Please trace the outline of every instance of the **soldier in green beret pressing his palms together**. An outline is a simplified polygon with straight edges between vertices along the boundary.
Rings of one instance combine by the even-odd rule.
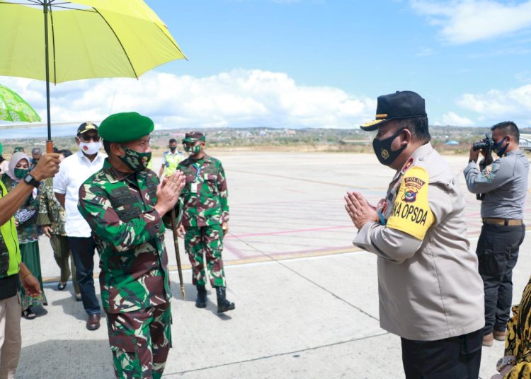
[[[103,120],[99,133],[108,158],[79,189],[79,211],[96,235],[117,378],[161,378],[171,347],[161,217],[178,201],[184,177],[177,171],[159,184],[156,174],[146,170],[153,129],[152,120],[136,112]]]

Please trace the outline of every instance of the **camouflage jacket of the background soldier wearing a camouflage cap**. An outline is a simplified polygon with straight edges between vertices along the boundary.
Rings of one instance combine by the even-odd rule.
[[[183,226],[210,226],[229,222],[227,180],[222,163],[211,156],[185,159],[178,165],[186,176],[181,192]]]

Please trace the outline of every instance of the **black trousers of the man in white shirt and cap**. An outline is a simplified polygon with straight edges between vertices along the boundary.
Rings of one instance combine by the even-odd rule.
[[[101,313],[100,303],[94,288],[94,250],[96,242],[92,237],[69,237],[68,244],[76,266],[76,279],[86,313]]]

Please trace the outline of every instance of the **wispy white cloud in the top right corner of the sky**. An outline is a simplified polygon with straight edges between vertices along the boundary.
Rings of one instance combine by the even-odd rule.
[[[411,0],[414,10],[440,27],[444,40],[464,44],[531,28],[531,1]]]

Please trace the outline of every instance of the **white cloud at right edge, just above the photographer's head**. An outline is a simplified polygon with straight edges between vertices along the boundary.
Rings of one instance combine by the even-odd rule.
[[[521,127],[531,124],[531,84],[508,91],[491,90],[486,93],[465,93],[457,104],[479,115],[487,124],[513,120]]]

